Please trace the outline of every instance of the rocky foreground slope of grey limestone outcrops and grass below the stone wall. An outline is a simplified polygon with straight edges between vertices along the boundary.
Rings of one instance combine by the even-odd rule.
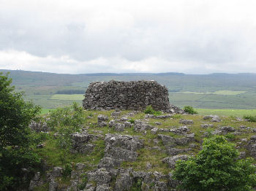
[[[48,139],[37,147],[44,163],[29,190],[175,190],[176,161],[196,155],[203,138],[214,134],[236,144],[240,158],[256,158],[256,123],[240,118],[113,110],[84,115],[68,151],[56,147],[57,130],[31,125]]]

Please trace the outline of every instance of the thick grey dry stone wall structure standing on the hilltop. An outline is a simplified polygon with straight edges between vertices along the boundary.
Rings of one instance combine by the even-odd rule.
[[[156,81],[92,82],[86,90],[85,109],[155,110],[171,112],[168,90]]]

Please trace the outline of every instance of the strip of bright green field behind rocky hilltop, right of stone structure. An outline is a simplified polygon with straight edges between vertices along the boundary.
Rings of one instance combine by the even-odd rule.
[[[195,109],[198,114],[217,114],[219,116],[236,116],[256,115],[256,109]]]

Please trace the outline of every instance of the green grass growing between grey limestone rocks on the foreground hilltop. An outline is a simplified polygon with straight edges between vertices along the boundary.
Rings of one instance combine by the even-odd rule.
[[[220,117],[220,122],[212,122],[211,118],[203,120],[203,116],[198,114],[173,114],[171,116],[167,116],[166,118],[162,118],[152,115],[148,116],[144,112],[121,111],[118,113],[118,115],[113,113],[116,112],[83,111],[81,113],[80,117],[82,117],[84,121],[83,124],[80,125],[80,128],[77,130],[81,131],[83,128],[82,132],[85,130],[86,133],[94,136],[94,139],[86,142],[86,145],[94,145],[93,149],[91,149],[89,152],[83,153],[70,152],[72,144],[69,145],[69,147],[67,147],[67,145],[61,146],[60,142],[63,141],[63,139],[60,135],[61,133],[63,135],[65,134],[65,128],[62,125],[53,126],[53,123],[50,123],[53,122],[52,120],[50,120],[52,117],[55,117],[54,119],[57,121],[59,119],[59,122],[61,123],[61,118],[58,118],[56,115],[57,112],[55,112],[55,114],[50,114],[45,117],[45,122],[52,124],[52,128],[50,128],[50,131],[46,136],[45,134],[41,133],[42,144],[44,145],[44,147],[38,147],[36,149],[36,152],[39,153],[39,155],[48,164],[48,172],[53,171],[53,167],[56,166],[61,167],[64,169],[64,171],[66,171],[66,175],[56,178],[56,182],[58,182],[59,188],[65,189],[67,187],[70,187],[70,185],[72,185],[72,181],[74,181],[74,179],[77,179],[72,175],[70,176],[71,171],[75,171],[80,174],[78,178],[78,187],[80,188],[80,190],[84,189],[86,187],[86,184],[93,184],[95,186],[98,185],[97,180],[91,178],[89,179],[88,177],[91,177],[90,174],[92,171],[97,171],[97,168],[99,168],[99,163],[101,163],[102,158],[107,155],[106,137],[108,134],[132,137],[138,136],[140,140],[143,140],[143,147],[136,150],[136,152],[138,153],[138,157],[136,158],[136,160],[123,161],[118,166],[118,168],[132,168],[132,173],[136,171],[143,171],[147,174],[151,174],[152,177],[156,176],[154,174],[157,171],[163,176],[160,182],[165,182],[165,184],[167,185],[170,184],[170,180],[168,180],[166,176],[168,176],[173,167],[171,167],[170,164],[163,162],[164,159],[167,157],[172,157],[173,155],[196,155],[197,152],[199,152],[201,149],[203,138],[211,137],[214,134],[222,134],[227,138],[228,141],[235,144],[239,152],[243,154],[241,155],[242,158],[252,156],[251,152],[247,149],[247,144],[250,138],[255,134],[256,122],[248,122],[246,120],[241,120],[236,117]],[[108,122],[109,124],[105,127],[99,125],[98,116],[100,114],[108,116],[108,120],[106,120],[106,122]],[[61,115],[59,115],[59,117],[61,117]],[[62,118],[62,120],[64,121],[64,118]],[[128,121],[131,122],[131,126],[126,127],[123,130],[118,129],[115,126],[110,127],[111,120],[115,120],[116,122],[120,123]],[[149,128],[144,130],[135,128],[138,120],[140,120],[140,122],[148,124]],[[192,124],[184,125],[182,124],[182,120],[190,120],[190,122],[192,120]],[[181,127],[184,126],[188,128],[186,133],[176,133],[177,129],[182,129]],[[152,130],[153,127],[156,129]],[[228,131],[224,130],[226,128],[223,127],[231,128],[230,131]],[[69,132],[69,136],[70,133],[72,132]],[[185,138],[191,137],[193,133],[193,139]],[[35,136],[38,136],[38,133],[35,133]],[[177,144],[172,145],[172,152],[168,151],[168,145],[165,143],[165,139],[162,138],[163,136],[166,136],[168,139],[171,138],[178,140]],[[185,141],[182,142],[181,140]],[[71,143],[74,144],[74,142]],[[173,151],[177,153],[173,153]],[[78,168],[78,164],[80,163],[83,164],[83,169]],[[256,160],[254,160],[253,163],[256,163]],[[116,184],[118,184],[118,179],[118,176],[113,176],[113,178],[110,179],[111,189],[116,187]],[[141,182],[138,182],[138,179],[135,180],[137,182],[135,181],[132,183],[132,187],[130,188],[130,190],[141,190],[144,186],[146,187],[145,179],[142,179]],[[155,190],[158,184],[153,183],[150,185],[148,184],[148,187],[151,190]],[[35,190],[48,190],[48,187],[49,182],[45,182],[41,186],[37,187]],[[167,189],[171,190],[171,187],[167,186]]]

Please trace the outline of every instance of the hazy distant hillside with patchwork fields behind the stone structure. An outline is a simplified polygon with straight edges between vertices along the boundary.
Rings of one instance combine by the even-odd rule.
[[[177,106],[192,105],[206,109],[256,109],[256,74],[181,74],[181,73],[99,73],[54,74],[38,71],[0,70],[10,72],[12,84],[24,90],[27,98],[44,108],[65,106],[78,96],[67,99],[52,96],[57,92],[85,91],[90,82],[156,80],[165,85],[170,102]]]

